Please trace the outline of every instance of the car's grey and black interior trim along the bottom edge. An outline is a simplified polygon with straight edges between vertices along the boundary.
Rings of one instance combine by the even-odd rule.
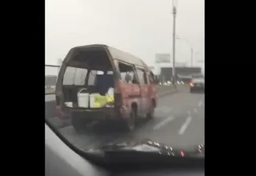
[[[45,175],[46,176],[80,176],[80,175],[120,175],[120,176],[137,176],[137,175],[173,175],[173,176],[201,176],[204,175],[204,167],[194,168],[170,168],[154,169],[152,167],[145,170],[122,170],[110,171],[100,166],[92,164],[90,161],[82,158],[74,152],[47,124],[45,125]]]

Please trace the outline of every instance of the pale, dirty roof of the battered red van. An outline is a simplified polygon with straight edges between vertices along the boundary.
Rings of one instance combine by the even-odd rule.
[[[134,55],[124,52],[122,50],[118,50],[114,47],[111,46],[107,46],[107,45],[102,45],[102,44],[94,44],[94,45],[87,45],[87,46],[76,46],[73,48],[73,50],[75,49],[88,49],[88,48],[102,48],[102,49],[106,49],[110,52],[111,57],[117,60],[120,60],[122,62],[128,62],[128,63],[132,63],[134,65],[137,66],[142,66],[142,67],[146,67],[146,70],[150,71],[150,68],[146,65],[145,62],[142,61],[142,59],[135,57]]]

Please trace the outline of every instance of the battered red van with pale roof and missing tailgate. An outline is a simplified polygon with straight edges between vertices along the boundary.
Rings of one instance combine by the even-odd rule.
[[[157,83],[150,68],[131,54],[106,45],[74,47],[58,74],[58,117],[71,118],[77,131],[93,121],[134,130],[138,118],[154,117]],[[97,98],[110,101],[99,106]]]

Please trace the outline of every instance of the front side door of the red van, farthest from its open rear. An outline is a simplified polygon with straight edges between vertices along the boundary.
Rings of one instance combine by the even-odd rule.
[[[146,114],[150,110],[150,86],[147,78],[146,70],[142,67],[137,67],[138,81],[141,88],[142,96],[142,114],[143,117],[146,117]]]

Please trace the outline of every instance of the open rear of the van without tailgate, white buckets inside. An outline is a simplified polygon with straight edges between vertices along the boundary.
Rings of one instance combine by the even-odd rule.
[[[77,47],[65,59],[62,93],[66,107],[114,106],[114,70],[105,48]]]

